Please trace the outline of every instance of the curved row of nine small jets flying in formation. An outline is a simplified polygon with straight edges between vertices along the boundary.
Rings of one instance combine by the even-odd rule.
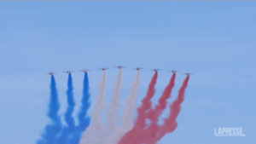
[[[116,68],[119,68],[119,69],[122,69],[122,68],[126,68],[125,66],[114,66]],[[98,68],[97,70],[102,70],[102,71],[105,71],[105,70],[108,70],[110,68],[107,68],[107,67],[102,67],[102,68]],[[135,67],[135,68],[132,68],[133,70],[137,70],[137,71],[140,71],[141,69],[144,69],[142,67]],[[158,68],[154,68],[154,69],[151,69],[149,71],[154,71],[154,72],[158,72],[158,71],[162,71],[161,69],[158,69]],[[69,73],[72,73],[73,71],[65,71],[67,74]],[[84,69],[84,70],[80,70],[79,72],[91,72],[90,70],[87,70],[87,69]],[[172,71],[168,71],[168,72],[172,72],[172,73],[175,73],[175,72],[179,72],[179,71],[176,71],[176,70],[172,70]],[[49,74],[50,76],[54,75],[54,74],[57,74],[55,72],[47,72],[45,74]],[[186,72],[186,73],[182,73],[182,74],[186,74],[187,76],[189,75],[194,75],[193,73],[189,73],[189,72]]]

